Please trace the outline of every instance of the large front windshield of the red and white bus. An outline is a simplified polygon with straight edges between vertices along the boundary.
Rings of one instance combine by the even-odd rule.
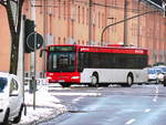
[[[49,72],[74,72],[75,52],[50,52],[48,61]]]

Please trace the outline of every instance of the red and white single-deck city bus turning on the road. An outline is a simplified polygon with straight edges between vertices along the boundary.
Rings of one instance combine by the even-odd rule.
[[[62,86],[116,83],[131,86],[147,81],[147,50],[131,46],[46,46],[46,77]]]

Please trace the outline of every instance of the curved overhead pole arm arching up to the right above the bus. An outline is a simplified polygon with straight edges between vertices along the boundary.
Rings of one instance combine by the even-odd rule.
[[[131,17],[131,18],[126,18],[124,20],[121,20],[118,22],[115,22],[115,23],[112,23],[112,24],[108,24],[106,25],[103,31],[102,31],[102,34],[101,34],[101,45],[103,45],[103,35],[104,35],[104,32],[110,28],[110,27],[113,27],[113,25],[116,25],[116,24],[120,24],[120,23],[123,23],[124,21],[128,21],[128,20],[132,20],[132,19],[135,19],[137,17],[141,17],[141,15],[144,15],[144,14],[148,14],[148,13],[152,13],[152,12],[158,12],[158,10],[156,11],[147,11],[147,12],[144,12],[144,13],[141,13],[141,14],[137,14],[137,15],[134,15],[134,17]]]

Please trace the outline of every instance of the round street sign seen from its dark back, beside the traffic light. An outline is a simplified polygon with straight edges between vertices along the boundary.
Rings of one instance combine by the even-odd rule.
[[[33,52],[34,44],[37,45],[35,49],[40,49],[43,44],[43,37],[37,32],[32,32],[28,35],[27,45]]]

